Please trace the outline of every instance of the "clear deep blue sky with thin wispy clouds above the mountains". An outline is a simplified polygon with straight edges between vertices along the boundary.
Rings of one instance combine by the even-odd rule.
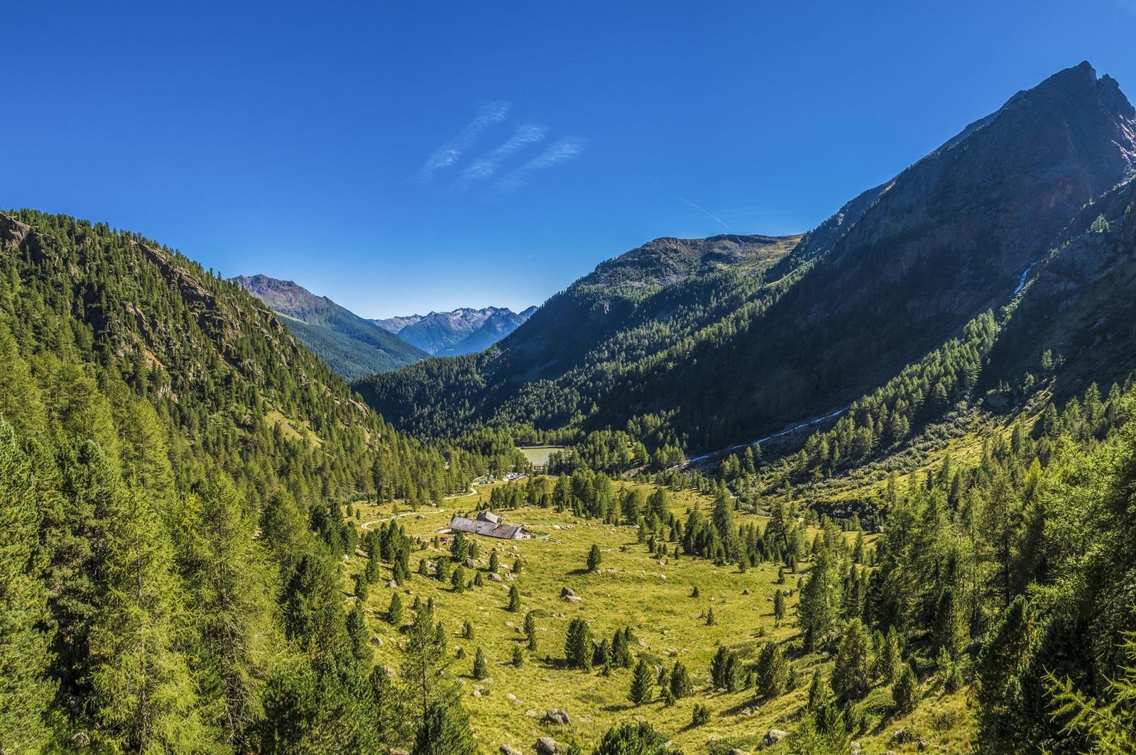
[[[807,230],[1083,59],[1136,94],[1136,0],[23,2],[3,27],[0,205],[368,317]]]

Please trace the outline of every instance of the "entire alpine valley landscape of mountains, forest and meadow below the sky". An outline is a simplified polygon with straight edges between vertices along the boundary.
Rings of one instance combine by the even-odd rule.
[[[1087,62],[520,313],[0,213],[0,753],[1136,752],[1134,291]]]

